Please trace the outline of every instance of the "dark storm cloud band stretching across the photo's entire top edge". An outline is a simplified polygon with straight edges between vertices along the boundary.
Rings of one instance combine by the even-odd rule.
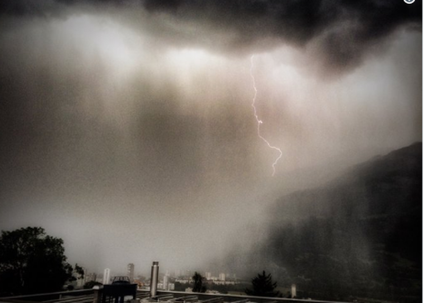
[[[174,23],[154,28],[171,43],[197,44],[218,51],[249,52],[280,43],[310,46],[324,67],[355,67],[401,25],[421,30],[422,3],[402,0],[18,0],[0,4],[0,11],[25,16],[50,16],[63,6],[144,8]],[[137,22],[133,23],[137,26]],[[196,27],[185,31],[184,26]],[[182,27],[178,29],[178,27]],[[160,33],[159,33],[160,32]]]

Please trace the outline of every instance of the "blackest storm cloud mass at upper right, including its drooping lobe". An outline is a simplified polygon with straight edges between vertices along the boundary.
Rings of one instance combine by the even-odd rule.
[[[407,5],[399,0],[146,0],[144,5],[151,12],[209,22],[237,33],[229,45],[222,45],[230,50],[269,47],[258,43],[266,38],[300,47],[313,42],[324,66],[334,68],[356,66],[400,25],[420,26],[422,19],[419,1]]]

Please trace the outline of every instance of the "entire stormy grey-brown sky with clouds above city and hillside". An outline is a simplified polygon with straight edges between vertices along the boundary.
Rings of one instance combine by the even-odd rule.
[[[421,22],[403,0],[1,1],[0,229],[112,275],[254,245],[308,171],[421,141]]]

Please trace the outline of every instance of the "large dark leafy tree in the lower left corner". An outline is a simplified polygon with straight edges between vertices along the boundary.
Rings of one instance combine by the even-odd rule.
[[[41,227],[27,227],[0,236],[0,296],[60,291],[73,281],[63,240]]]

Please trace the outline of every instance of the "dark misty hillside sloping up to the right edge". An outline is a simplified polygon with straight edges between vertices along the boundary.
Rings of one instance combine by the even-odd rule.
[[[422,143],[278,199],[246,262],[314,299],[421,301]]]

